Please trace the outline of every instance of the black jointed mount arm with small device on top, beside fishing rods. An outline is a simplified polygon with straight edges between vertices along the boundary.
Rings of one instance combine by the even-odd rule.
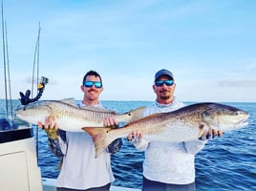
[[[41,76],[41,81],[37,85],[38,94],[34,98],[30,98],[30,96],[31,96],[31,91],[30,90],[27,90],[25,95],[22,92],[20,92],[19,93],[19,95],[20,95],[19,100],[20,100],[21,104],[22,105],[28,105],[28,104],[30,104],[34,101],[37,101],[43,95],[45,85],[48,82],[49,82],[49,79],[47,77]]]

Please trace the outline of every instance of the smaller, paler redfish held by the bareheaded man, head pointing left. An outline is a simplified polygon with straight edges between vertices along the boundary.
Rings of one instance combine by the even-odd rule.
[[[72,132],[81,132],[82,127],[104,127],[103,121],[106,117],[114,117],[117,122],[131,122],[142,117],[144,107],[117,114],[114,111],[94,107],[75,105],[74,99],[42,100],[17,109],[16,116],[37,124],[44,122],[46,117],[51,117],[59,129]]]

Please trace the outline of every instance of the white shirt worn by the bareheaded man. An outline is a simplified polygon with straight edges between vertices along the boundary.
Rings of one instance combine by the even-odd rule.
[[[66,138],[66,143],[59,138],[64,158],[57,187],[88,189],[115,180],[110,154],[104,151],[95,159],[95,145],[87,132],[66,132]]]

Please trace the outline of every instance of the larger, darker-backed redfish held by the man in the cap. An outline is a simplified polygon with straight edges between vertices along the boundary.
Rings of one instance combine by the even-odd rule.
[[[116,138],[139,131],[148,141],[186,141],[200,138],[209,128],[223,132],[242,128],[248,113],[219,103],[197,103],[169,113],[154,114],[119,129],[83,128],[95,142],[96,157]]]

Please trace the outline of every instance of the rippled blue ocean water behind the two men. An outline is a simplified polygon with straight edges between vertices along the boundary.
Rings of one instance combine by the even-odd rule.
[[[14,107],[19,102],[14,101]],[[190,102],[187,102],[188,104]],[[150,101],[102,101],[102,104],[118,113],[151,104]],[[222,138],[209,140],[196,155],[196,185],[198,191],[256,190],[256,103],[225,103],[244,109],[250,114],[249,125],[243,129],[225,133]],[[0,118],[5,117],[5,102],[0,99]],[[17,120],[19,124],[27,124]],[[56,178],[58,159],[48,149],[47,137],[34,127],[37,139],[38,164],[42,176]],[[38,138],[37,138],[38,137]],[[114,185],[141,188],[144,154],[123,138],[119,152],[112,156],[115,175]]]

